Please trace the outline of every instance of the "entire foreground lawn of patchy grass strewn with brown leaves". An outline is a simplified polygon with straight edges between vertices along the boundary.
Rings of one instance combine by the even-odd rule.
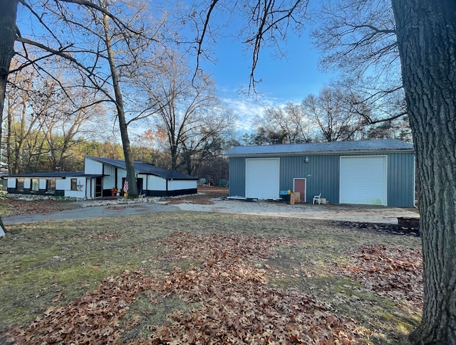
[[[0,240],[0,342],[407,344],[420,239],[337,223],[154,213]]]

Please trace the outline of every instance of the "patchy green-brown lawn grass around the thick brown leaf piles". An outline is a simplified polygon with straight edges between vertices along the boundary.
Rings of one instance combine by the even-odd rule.
[[[74,307],[103,279],[128,270],[140,272],[150,285],[118,314],[120,341],[162,336],[163,327],[179,320],[199,320],[195,315],[200,317],[207,306],[205,299],[186,292],[182,282],[170,283],[166,293],[160,284],[176,274],[187,275],[186,279],[194,275],[196,279],[209,269],[211,275],[223,274],[234,265],[229,258],[237,255],[242,269],[261,280],[262,291],[284,301],[306,294],[315,305],[331,306],[328,312],[346,324],[353,319],[357,329],[353,334],[361,335],[360,342],[351,344],[407,344],[408,332],[420,320],[420,309],[341,273],[341,267],[354,264],[351,255],[366,245],[420,250],[420,239],[336,222],[182,211],[110,222],[100,218],[15,225],[0,240],[0,331],[11,325],[27,329],[36,317],[43,319],[49,307]],[[248,302],[247,295],[243,298]],[[13,334],[18,334],[17,329]],[[5,342],[6,336],[2,339]]]

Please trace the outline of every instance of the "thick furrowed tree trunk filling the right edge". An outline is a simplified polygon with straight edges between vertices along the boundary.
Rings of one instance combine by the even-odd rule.
[[[413,344],[456,344],[456,1],[392,0],[415,140],[424,307]]]

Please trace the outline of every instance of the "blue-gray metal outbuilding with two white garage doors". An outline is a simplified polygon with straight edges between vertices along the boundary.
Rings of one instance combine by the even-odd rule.
[[[233,147],[229,196],[413,207],[415,151],[398,139]]]

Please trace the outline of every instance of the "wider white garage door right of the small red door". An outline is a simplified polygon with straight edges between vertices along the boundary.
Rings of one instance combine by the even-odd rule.
[[[386,156],[341,157],[340,203],[386,205]]]

